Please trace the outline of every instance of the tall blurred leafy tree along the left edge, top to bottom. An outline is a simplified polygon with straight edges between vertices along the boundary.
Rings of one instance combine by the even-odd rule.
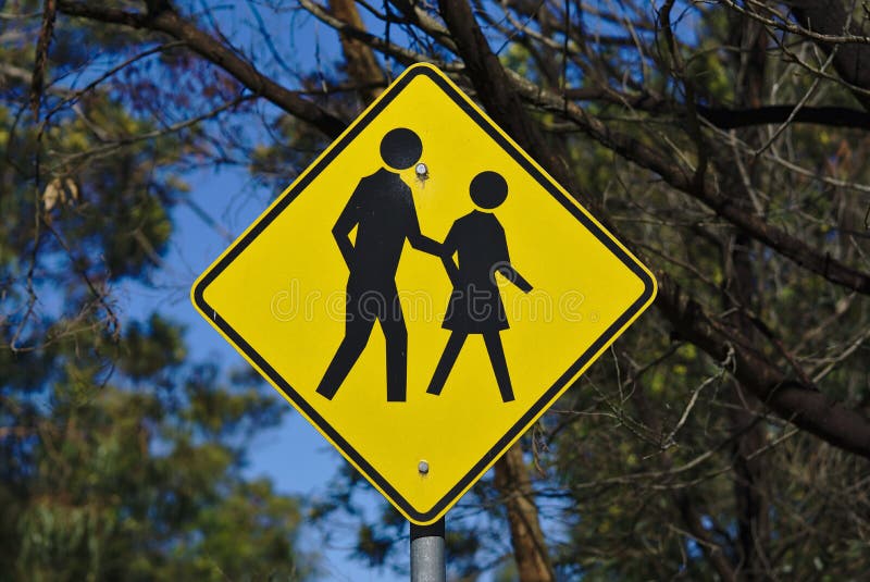
[[[51,3],[8,4],[0,578],[310,579],[300,500],[243,473],[251,435],[284,406],[250,372],[191,361],[177,324],[133,319],[114,293],[161,265],[191,136],[142,109],[157,79],[94,72],[136,61],[117,35],[52,33]],[[66,79],[79,74],[77,89]],[[137,91],[113,87],[117,75]]]

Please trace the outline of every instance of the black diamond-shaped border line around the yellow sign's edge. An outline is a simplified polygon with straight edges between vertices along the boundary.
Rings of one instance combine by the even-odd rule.
[[[591,231],[598,240],[600,240],[613,255],[616,255],[634,274],[636,274],[644,283],[644,292],[631,305],[631,307],[610,325],[605,333],[593,343],[592,346],[556,381],[556,383],[547,389],[546,393],[532,406],[532,408],[523,414],[520,420],[511,426],[511,429],[502,436],[488,451],[484,455],[472,469],[457,483],[435,506],[428,511],[421,512],[414,509],[399,493],[384,479],[374,468],[357,453],[353,447],[345,441],[324,419],[321,417],[307,401],[297,393],[287,381],[285,381],[269,362],[266,362],[260,354],[257,352],[221,315],[217,313],[204,299],[203,294],[206,287],[211,284],[214,278],[223,272],[224,269],[233,262],[233,260],[241,253],[247,246],[263,230],[272,223],[281,212],[293,202],[306,187],[320,175],[321,172],[338,156],[348,144],[350,144],[362,129],[364,129],[371,122],[383,111],[396,96],[415,77],[425,75],[434,82],[442,90],[444,90],[452,100],[458,104],[474,122],[483,128],[496,144],[504,148],[510,156],[534,178],[554,198],[556,198],[566,210],[580,221],[583,226]],[[405,75],[402,75],[394,85],[387,88],[381,99],[363,114],[349,131],[338,139],[321,158],[316,164],[307,172],[298,183],[284,194],[284,196],[272,207],[272,209],[263,216],[261,216],[254,226],[248,231],[243,238],[236,242],[232,249],[221,258],[221,260],[212,267],[212,269],[197,283],[194,287],[194,301],[200,311],[208,318],[211,315],[212,322],[241,350],[248,358],[251,359],[262,370],[269,379],[287,395],[290,401],[296,405],[311,421],[316,424],[325,435],[327,435],[333,443],[338,446],[341,451],[353,460],[357,467],[363,471],[369,479],[371,479],[381,491],[387,495],[393,503],[399,506],[405,513],[411,518],[412,521],[421,523],[428,523],[436,519],[446,508],[451,506],[458,496],[472,483],[474,483],[483,474],[483,471],[495,460],[498,454],[507,449],[508,445],[512,443],[520,434],[526,429],[532,420],[537,417],[544,408],[548,407],[552,400],[558,396],[559,392],[566,386],[568,382],[573,379],[576,373],[611,339],[617,333],[634,318],[641,309],[652,298],[656,290],[656,283],[652,277],[641,267],[636,259],[630,256],[616,240],[606,234],[600,226],[591,220],[584,212],[582,212],[575,203],[570,201],[556,185],[538,170],[517,146],[511,144],[505,136],[496,128],[495,124],[486,119],[474,107],[470,106],[457,88],[450,85],[442,75],[436,73],[427,65],[415,65],[410,67]]]

